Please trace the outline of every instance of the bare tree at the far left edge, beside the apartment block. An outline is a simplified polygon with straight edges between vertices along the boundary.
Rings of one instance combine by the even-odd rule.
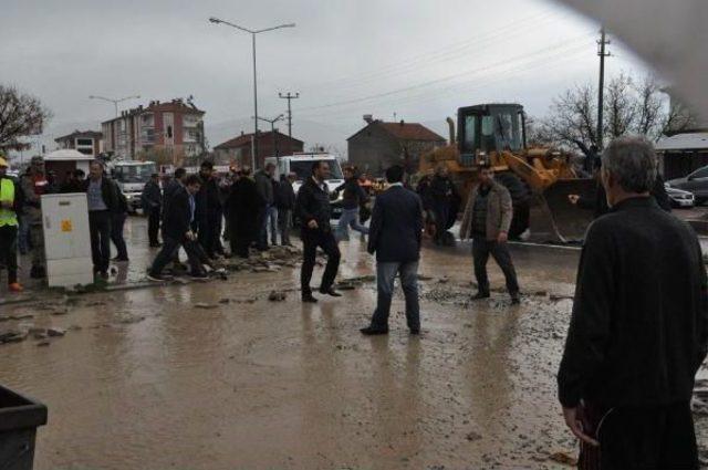
[[[42,133],[51,112],[35,96],[13,86],[0,85],[0,145],[18,143],[18,138]]]

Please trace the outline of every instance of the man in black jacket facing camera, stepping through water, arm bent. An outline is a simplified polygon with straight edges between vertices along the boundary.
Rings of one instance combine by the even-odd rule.
[[[310,281],[314,269],[317,247],[322,248],[327,257],[327,265],[322,275],[320,293],[333,297],[342,296],[333,288],[334,278],[340,268],[340,249],[332,233],[330,219],[332,209],[330,207],[330,191],[326,179],[330,177],[330,165],[324,160],[312,164],[312,176],[308,178],[300,190],[295,202],[295,210],[302,224],[301,239],[303,244],[303,263],[300,272],[300,286],[302,301],[315,303],[317,300],[312,295]]]

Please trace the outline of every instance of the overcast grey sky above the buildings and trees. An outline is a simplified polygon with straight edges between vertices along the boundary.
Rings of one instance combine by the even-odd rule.
[[[194,95],[207,135],[242,126],[253,114],[251,39],[211,15],[296,23],[258,36],[259,114],[285,109],[278,92],[300,92],[295,135],[300,119],[345,137],[363,114],[441,126],[483,102],[542,116],[563,90],[597,80],[598,24],[550,0],[2,0],[0,81],[52,109],[50,132],[112,117],[91,94],[142,95],[126,107]],[[611,51],[610,76],[646,73],[621,44]]]

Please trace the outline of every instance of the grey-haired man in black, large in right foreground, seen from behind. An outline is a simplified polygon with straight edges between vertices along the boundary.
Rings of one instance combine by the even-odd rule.
[[[650,196],[657,161],[647,140],[615,139],[602,160],[611,210],[587,229],[577,269],[558,374],[565,422],[581,461],[603,470],[698,469],[690,399],[708,348],[700,244]]]

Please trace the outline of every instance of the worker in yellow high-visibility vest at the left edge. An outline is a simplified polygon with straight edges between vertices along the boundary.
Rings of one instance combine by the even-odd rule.
[[[18,282],[18,212],[22,206],[20,186],[8,175],[8,161],[0,156],[0,262],[8,270],[10,292],[21,292]]]

